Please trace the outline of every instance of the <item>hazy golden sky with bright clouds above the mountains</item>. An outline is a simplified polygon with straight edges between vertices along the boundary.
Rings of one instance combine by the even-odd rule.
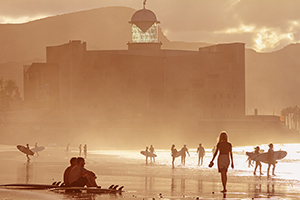
[[[143,0],[0,0],[0,23],[106,6],[141,9]],[[147,0],[172,41],[244,42],[257,51],[300,42],[300,0]]]

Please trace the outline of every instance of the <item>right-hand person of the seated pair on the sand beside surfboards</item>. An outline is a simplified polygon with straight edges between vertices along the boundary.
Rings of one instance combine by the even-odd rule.
[[[69,175],[70,186],[74,187],[97,187],[95,173],[84,168],[84,158],[78,157],[76,166],[74,166]]]

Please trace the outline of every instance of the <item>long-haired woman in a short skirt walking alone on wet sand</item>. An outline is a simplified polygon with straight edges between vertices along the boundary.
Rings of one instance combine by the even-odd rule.
[[[232,145],[231,143],[228,142],[228,136],[225,131],[220,133],[217,149],[216,152],[214,153],[212,160],[210,161],[209,167],[213,166],[213,161],[217,156],[218,152],[219,152],[218,171],[221,173],[221,180],[223,185],[223,190],[221,192],[227,192],[227,188],[226,188],[227,170],[230,164],[230,160],[231,160],[232,169],[234,168],[234,164],[233,164],[233,156],[232,156]]]

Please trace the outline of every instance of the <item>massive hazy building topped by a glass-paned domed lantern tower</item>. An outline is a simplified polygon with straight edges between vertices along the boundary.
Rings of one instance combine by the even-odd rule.
[[[91,51],[82,41],[47,47],[45,63],[24,67],[27,108],[95,120],[100,129],[135,129],[136,121],[138,127],[186,127],[245,116],[243,43],[167,50],[151,10],[138,10],[129,23],[128,50]]]

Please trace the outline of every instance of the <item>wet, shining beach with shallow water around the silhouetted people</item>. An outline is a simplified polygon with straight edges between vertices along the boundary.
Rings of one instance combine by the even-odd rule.
[[[263,164],[262,176],[253,175],[248,167],[246,151],[252,146],[234,147],[235,169],[228,170],[226,194],[221,193],[222,184],[217,172],[216,160],[206,149],[204,164],[197,165],[196,149],[189,149],[186,165],[175,161],[172,169],[169,149],[156,150],[155,163],[148,161],[140,150],[88,150],[85,167],[97,174],[97,183],[103,188],[124,185],[122,195],[81,194],[70,195],[50,190],[16,190],[0,188],[0,199],[299,199],[300,198],[300,144],[274,145],[275,150],[285,150],[288,155],[276,165],[276,176],[266,176],[267,165]],[[267,150],[267,145],[262,145]],[[26,161],[25,154],[14,145],[0,145],[0,184],[31,183],[51,184],[61,181],[72,156],[79,156],[78,147],[66,152],[65,147],[45,146],[39,156]],[[83,155],[82,155],[83,156]]]

